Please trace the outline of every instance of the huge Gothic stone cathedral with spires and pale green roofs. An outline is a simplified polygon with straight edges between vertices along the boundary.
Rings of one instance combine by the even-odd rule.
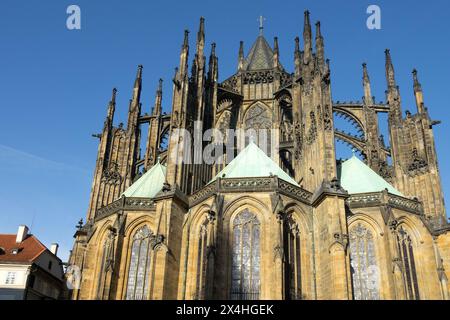
[[[292,71],[280,63],[277,38],[270,45],[262,31],[247,54],[240,43],[237,69],[222,82],[215,43],[205,57],[204,19],[190,65],[186,31],[170,114],[161,81],[154,105],[141,104],[142,66],[126,126],[114,125],[113,90],[71,251],[81,269],[73,299],[449,299],[439,122],[417,71],[414,114],[402,112],[389,50],[384,102],[372,97],[366,64],[363,101],[335,102],[320,23],[313,36],[309,12]],[[380,113],[388,114],[387,142]],[[338,117],[358,134],[337,128]],[[172,161],[198,151],[174,137],[195,127],[225,136],[269,129],[278,148],[264,152],[252,138],[222,163]],[[338,140],[360,157],[337,160]]]

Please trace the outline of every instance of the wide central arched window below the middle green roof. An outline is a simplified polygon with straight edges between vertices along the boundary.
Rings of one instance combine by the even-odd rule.
[[[233,220],[232,300],[257,300],[260,294],[260,223],[249,210]]]

